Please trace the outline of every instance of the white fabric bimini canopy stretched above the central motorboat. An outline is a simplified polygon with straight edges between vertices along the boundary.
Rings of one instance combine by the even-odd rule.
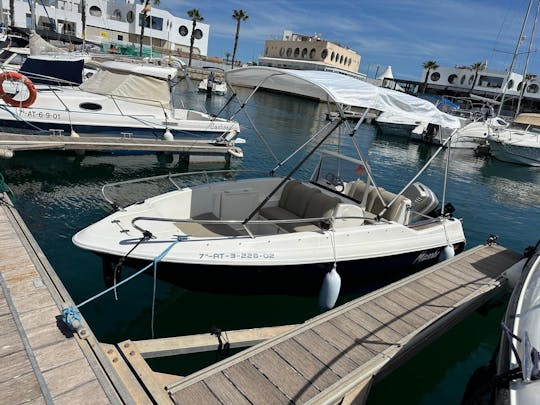
[[[261,85],[336,104],[371,108],[412,121],[430,122],[446,128],[460,127],[457,117],[443,113],[429,101],[338,73],[253,66],[230,70],[225,73],[225,78],[231,86]]]

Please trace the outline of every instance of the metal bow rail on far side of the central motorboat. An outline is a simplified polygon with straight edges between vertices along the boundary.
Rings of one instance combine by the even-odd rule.
[[[125,206],[122,206],[118,201],[115,201],[114,198],[110,195],[110,190],[115,187],[130,185],[130,184],[137,184],[137,183],[148,183],[158,180],[168,180],[170,184],[172,184],[177,190],[182,190],[185,187],[191,187],[194,185],[201,185],[201,184],[208,184],[210,182],[210,176],[216,176],[216,175],[222,175],[227,176],[227,180],[230,180],[231,177],[237,176],[237,175],[260,175],[264,174],[266,176],[272,177],[272,174],[263,171],[263,170],[200,170],[195,172],[186,172],[186,173],[169,173],[169,174],[162,174],[158,176],[150,176],[150,177],[141,177],[137,179],[131,179],[131,180],[124,180],[124,181],[118,181],[114,183],[107,183],[101,187],[101,195],[103,196],[103,199],[107,201],[109,204],[111,204],[115,209],[118,210],[125,210]],[[190,177],[197,177],[202,178],[203,181],[200,182],[192,182],[190,184],[179,184],[175,181],[175,179],[188,179]]]

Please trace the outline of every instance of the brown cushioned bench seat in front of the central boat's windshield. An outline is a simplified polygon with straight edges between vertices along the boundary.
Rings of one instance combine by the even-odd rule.
[[[260,214],[270,220],[330,217],[340,202],[337,197],[328,196],[316,188],[291,180],[284,186],[278,206],[265,207]],[[319,231],[320,225],[307,222],[279,224],[287,232]]]

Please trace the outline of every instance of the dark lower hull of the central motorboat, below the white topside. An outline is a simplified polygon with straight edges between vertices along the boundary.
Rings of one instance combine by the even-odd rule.
[[[455,245],[456,253],[461,252],[464,246],[465,243]],[[341,293],[369,291],[422,270],[438,261],[443,248],[444,246],[440,246],[393,256],[338,262],[337,272],[342,280]],[[107,279],[107,271],[114,269],[115,263],[120,258],[99,253],[98,255],[103,258],[104,276]],[[135,270],[149,263],[132,258],[124,262],[127,267]],[[192,291],[238,295],[316,295],[320,291],[324,276],[332,267],[332,262],[280,266],[224,266],[162,261],[157,267],[157,277]],[[147,273],[152,272],[153,269]]]

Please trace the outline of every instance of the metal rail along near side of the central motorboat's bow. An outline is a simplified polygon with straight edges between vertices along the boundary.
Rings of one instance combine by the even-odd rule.
[[[238,219],[194,219],[194,218],[163,218],[163,217],[135,217],[131,220],[131,225],[143,235],[152,235],[148,229],[136,224],[139,221],[153,222],[174,222],[174,223],[191,223],[198,225],[241,225],[251,238],[255,238],[255,234],[249,229],[250,226],[256,225],[280,225],[280,224],[320,224],[321,232],[334,229],[336,220],[364,220],[370,224],[390,223],[385,218],[370,218],[365,216],[332,216],[332,217],[317,217],[317,218],[293,218],[293,219],[253,219],[244,223],[244,220]],[[192,236],[192,235],[186,235]]]

